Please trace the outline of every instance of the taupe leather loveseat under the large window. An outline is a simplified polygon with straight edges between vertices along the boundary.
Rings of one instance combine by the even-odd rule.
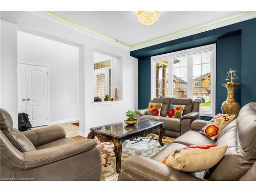
[[[147,109],[135,110],[136,118],[162,121],[165,128],[165,136],[179,137],[190,129],[190,124],[199,118],[198,101],[185,98],[154,98],[152,103],[163,103],[161,116],[147,115]],[[170,104],[185,105],[182,117],[180,119],[166,117]]]

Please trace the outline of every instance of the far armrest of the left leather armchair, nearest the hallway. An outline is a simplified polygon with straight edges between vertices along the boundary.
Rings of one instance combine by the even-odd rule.
[[[35,147],[66,137],[65,130],[63,130],[61,126],[57,125],[29,130],[22,133],[33,143]]]

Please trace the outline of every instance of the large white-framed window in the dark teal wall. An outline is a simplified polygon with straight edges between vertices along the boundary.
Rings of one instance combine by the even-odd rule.
[[[200,115],[215,115],[216,44],[154,56],[151,66],[152,98],[192,98]]]

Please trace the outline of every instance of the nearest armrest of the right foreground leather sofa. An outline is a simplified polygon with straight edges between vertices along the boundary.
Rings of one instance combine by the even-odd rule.
[[[136,178],[139,181],[201,181],[202,179],[176,170],[146,157],[131,157],[123,161],[118,181]],[[125,177],[130,176],[130,177]]]

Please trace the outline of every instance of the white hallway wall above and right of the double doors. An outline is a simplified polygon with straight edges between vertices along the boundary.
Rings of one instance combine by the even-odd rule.
[[[77,47],[18,31],[17,58],[49,66],[50,124],[79,118]]]

